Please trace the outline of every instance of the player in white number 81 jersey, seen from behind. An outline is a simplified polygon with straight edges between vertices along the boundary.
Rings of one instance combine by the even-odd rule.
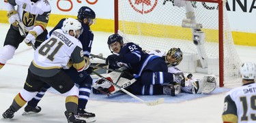
[[[35,50],[24,88],[3,113],[3,118],[13,118],[18,109],[30,101],[44,84],[48,84],[66,96],[65,115],[68,122],[85,122],[76,118],[79,89],[61,69],[68,68],[70,60],[77,71],[89,67],[89,61],[83,58],[82,44],[77,39],[82,30],[79,20],[67,18],[63,22],[63,28],[55,30],[51,37]]]

